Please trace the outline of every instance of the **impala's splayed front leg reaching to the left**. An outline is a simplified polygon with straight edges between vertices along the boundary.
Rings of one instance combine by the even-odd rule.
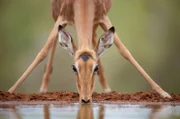
[[[57,38],[57,34],[58,34],[58,26],[59,24],[65,24],[65,22],[62,20],[62,17],[58,17],[49,37],[48,40],[46,42],[46,44],[44,45],[44,47],[41,49],[41,51],[38,53],[38,55],[36,56],[35,60],[32,62],[32,64],[27,68],[27,70],[24,72],[24,74],[18,79],[18,81],[8,90],[8,92],[13,93],[16,88],[27,78],[27,76],[32,72],[32,70],[41,62],[43,61],[50,48],[52,47],[53,42],[55,41],[55,39]]]

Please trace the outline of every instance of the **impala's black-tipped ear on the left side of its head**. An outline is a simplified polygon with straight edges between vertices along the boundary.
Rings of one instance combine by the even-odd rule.
[[[74,56],[76,47],[73,43],[71,35],[61,26],[58,27],[58,41],[59,44],[67,50],[71,56]]]

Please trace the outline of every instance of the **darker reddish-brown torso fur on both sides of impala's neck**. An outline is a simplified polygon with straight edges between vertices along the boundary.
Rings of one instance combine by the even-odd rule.
[[[74,22],[74,2],[77,0],[51,0],[52,16],[54,21],[58,16],[64,16],[67,21]],[[111,8],[113,0],[92,0],[95,4],[94,20],[99,20],[103,15],[107,14]]]

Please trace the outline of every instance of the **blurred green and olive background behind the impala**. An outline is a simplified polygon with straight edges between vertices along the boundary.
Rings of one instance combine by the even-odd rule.
[[[0,90],[8,90],[45,44],[54,21],[50,0],[0,1]],[[108,13],[121,41],[167,92],[180,93],[180,0],[115,0]],[[66,28],[76,39],[75,29]],[[98,37],[103,31],[98,29]],[[112,46],[102,56],[112,90],[151,90],[139,72]],[[16,92],[38,92],[47,58]],[[77,91],[73,58],[57,44],[49,91]],[[97,92],[102,88],[96,79]]]

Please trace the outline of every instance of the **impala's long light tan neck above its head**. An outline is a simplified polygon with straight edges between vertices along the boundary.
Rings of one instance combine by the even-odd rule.
[[[77,0],[74,6],[74,21],[79,49],[91,49],[95,11],[93,3],[93,0]]]

